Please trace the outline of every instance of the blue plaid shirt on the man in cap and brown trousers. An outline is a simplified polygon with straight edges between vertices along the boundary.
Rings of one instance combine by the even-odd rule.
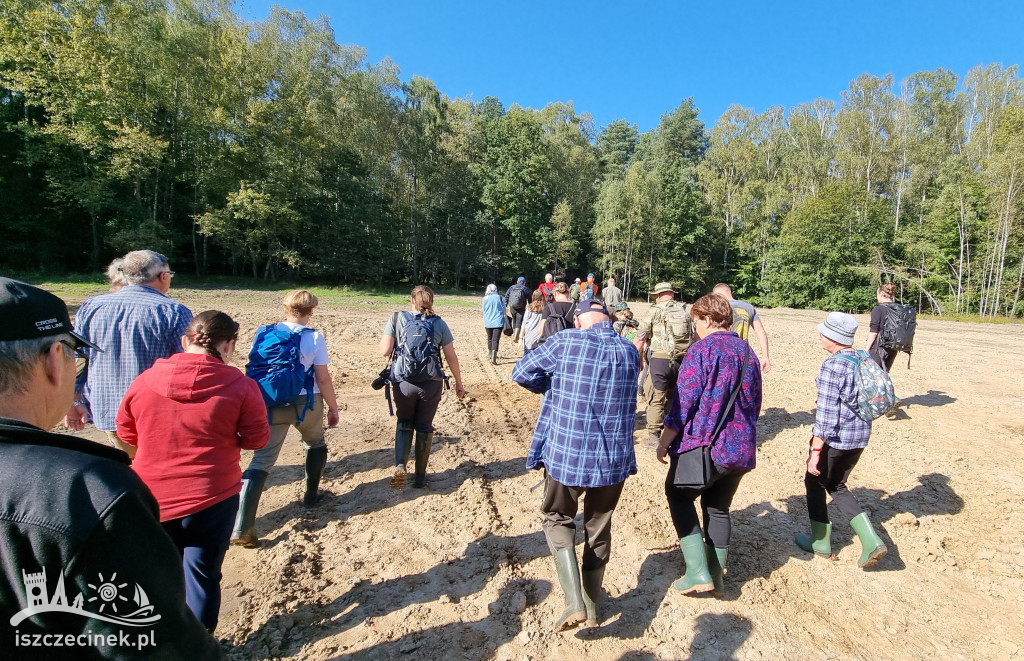
[[[544,393],[526,468],[572,487],[618,484],[636,473],[639,372],[640,355],[610,321],[561,330],[523,356],[512,380]]]

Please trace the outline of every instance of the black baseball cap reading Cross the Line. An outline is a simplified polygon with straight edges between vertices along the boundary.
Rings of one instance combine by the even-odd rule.
[[[75,347],[102,351],[72,330],[68,306],[56,296],[38,287],[9,277],[0,277],[0,342],[35,340],[70,334]]]

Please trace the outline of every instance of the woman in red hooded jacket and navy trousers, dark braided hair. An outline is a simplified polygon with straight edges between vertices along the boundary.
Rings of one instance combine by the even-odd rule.
[[[241,451],[270,437],[259,387],[227,364],[238,337],[223,312],[197,314],[181,338],[184,353],[139,374],[117,416],[118,438],[138,448],[132,469],[181,553],[185,602],[211,632],[242,490]]]

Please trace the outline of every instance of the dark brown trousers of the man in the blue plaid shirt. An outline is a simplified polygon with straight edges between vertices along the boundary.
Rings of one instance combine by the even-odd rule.
[[[544,536],[555,555],[575,547],[575,515],[583,497],[583,569],[600,569],[611,556],[611,513],[625,482],[606,487],[567,487],[551,476],[544,479]],[[586,495],[585,495],[586,494]]]

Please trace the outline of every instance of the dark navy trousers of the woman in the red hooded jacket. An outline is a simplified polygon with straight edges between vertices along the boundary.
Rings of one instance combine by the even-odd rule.
[[[162,525],[181,555],[185,572],[185,604],[203,626],[217,628],[220,613],[220,567],[230,544],[239,495],[196,514]]]

